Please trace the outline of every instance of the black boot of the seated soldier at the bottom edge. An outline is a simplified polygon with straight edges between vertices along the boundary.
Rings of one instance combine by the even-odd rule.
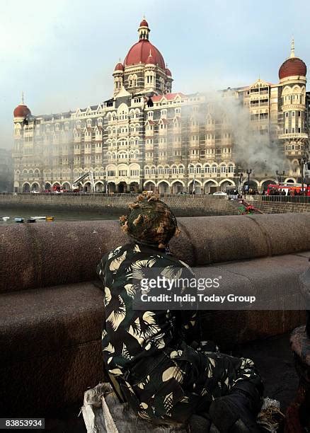
[[[216,398],[209,415],[221,433],[260,433],[256,417],[262,405],[260,391],[248,381],[240,381],[228,396]]]

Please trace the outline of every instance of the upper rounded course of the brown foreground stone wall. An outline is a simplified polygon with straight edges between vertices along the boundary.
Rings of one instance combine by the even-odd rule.
[[[310,249],[307,214],[179,218],[173,253],[190,266]],[[0,293],[89,281],[108,250],[128,241],[118,221],[0,226]]]

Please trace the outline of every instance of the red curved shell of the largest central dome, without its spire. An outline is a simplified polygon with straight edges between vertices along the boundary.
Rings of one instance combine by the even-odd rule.
[[[143,21],[142,21],[143,22]],[[151,50],[152,64],[158,64],[161,69],[165,70],[165,62],[163,56],[157,50],[154,45],[148,40],[139,40],[136,44],[132,45],[125,57],[125,66],[130,66],[131,64],[144,63],[147,64],[147,59],[149,57],[149,52]]]

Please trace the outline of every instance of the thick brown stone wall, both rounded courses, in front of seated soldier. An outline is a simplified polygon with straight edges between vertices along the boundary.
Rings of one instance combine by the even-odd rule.
[[[173,255],[198,277],[222,277],[224,294],[254,294],[268,306],[206,308],[193,340],[212,339],[230,352],[304,323],[304,311],[288,307],[300,296],[299,275],[308,267],[307,214],[179,218],[178,226]],[[1,224],[0,239],[0,413],[35,417],[81,406],[84,391],[104,374],[96,267],[128,237],[110,220]]]

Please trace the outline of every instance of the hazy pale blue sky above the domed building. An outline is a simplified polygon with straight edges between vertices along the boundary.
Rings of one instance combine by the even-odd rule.
[[[34,115],[96,105],[113,92],[113,69],[150,40],[173,74],[173,91],[194,93],[261,79],[295,54],[310,65],[309,0],[0,0],[0,147],[12,145],[13,109],[25,92]]]

